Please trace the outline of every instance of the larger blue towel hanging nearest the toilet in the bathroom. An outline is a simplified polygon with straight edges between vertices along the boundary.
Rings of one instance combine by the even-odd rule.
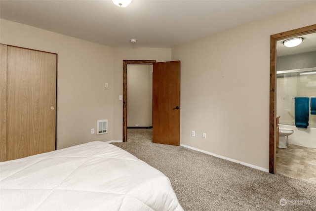
[[[295,97],[295,126],[307,128],[310,113],[310,98]]]

